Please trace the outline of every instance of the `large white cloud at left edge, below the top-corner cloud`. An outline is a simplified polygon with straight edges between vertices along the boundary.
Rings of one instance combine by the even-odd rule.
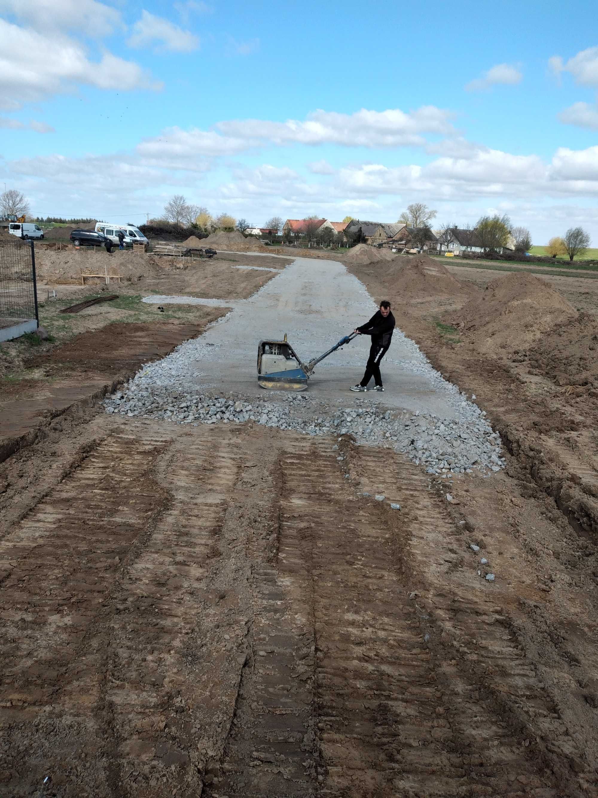
[[[159,85],[133,61],[105,51],[93,62],[73,39],[41,34],[0,19],[0,109],[72,91],[76,85],[98,89],[157,89]]]

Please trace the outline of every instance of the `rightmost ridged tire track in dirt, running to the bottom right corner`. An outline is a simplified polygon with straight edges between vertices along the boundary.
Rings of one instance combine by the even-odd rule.
[[[468,780],[480,787],[492,784],[506,795],[521,785],[525,794],[542,796],[595,791],[593,764],[584,763],[536,664],[527,658],[509,607],[501,606],[486,583],[477,590],[451,583],[450,573],[462,560],[462,536],[427,476],[399,455],[380,469],[380,452],[352,444],[344,451],[365,490],[385,493],[403,507],[407,590],[421,591],[412,603],[431,635],[439,705],[452,733],[447,739],[462,757]],[[494,777],[488,776],[489,767]]]

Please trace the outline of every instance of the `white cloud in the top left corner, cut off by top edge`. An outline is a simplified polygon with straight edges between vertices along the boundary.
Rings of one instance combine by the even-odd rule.
[[[96,0],[0,0],[0,13],[11,14],[36,30],[85,31],[104,38],[124,28],[120,11]]]

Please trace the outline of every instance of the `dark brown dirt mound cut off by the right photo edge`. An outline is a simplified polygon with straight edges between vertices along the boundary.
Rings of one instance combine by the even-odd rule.
[[[530,365],[557,385],[598,384],[598,321],[580,313],[566,318],[542,336],[528,353]]]

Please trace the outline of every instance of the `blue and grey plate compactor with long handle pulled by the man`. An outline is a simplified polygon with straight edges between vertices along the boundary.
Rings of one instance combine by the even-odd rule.
[[[304,363],[295,353],[293,347],[284,341],[260,341],[258,346],[258,383],[262,388],[273,391],[305,391],[307,381],[313,374],[314,367],[329,354],[336,352],[344,344],[348,344],[359,333],[345,335],[319,358]]]

